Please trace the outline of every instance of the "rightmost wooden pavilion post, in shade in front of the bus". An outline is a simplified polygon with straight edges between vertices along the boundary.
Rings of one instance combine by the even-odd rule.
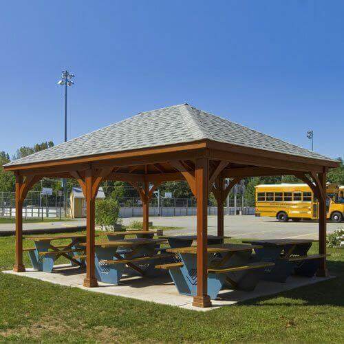
[[[326,173],[319,173],[319,188],[322,189],[323,197],[319,200],[319,254],[326,255]],[[329,272],[327,270],[326,256],[321,259],[320,268],[316,272],[316,276],[327,277]]]

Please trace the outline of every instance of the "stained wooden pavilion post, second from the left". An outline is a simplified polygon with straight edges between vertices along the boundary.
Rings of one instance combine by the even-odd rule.
[[[92,192],[94,186],[94,173],[91,169],[85,171],[86,186],[86,278],[83,286],[98,287],[94,265],[94,244],[95,244],[95,202],[96,194]]]

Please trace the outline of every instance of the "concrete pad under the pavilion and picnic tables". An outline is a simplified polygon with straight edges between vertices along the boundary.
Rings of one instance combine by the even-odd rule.
[[[215,308],[233,305],[238,302],[255,299],[257,297],[265,297],[272,294],[277,294],[286,290],[299,288],[301,286],[308,286],[320,281],[326,281],[332,277],[299,277],[291,276],[286,283],[276,283],[270,281],[260,281],[258,286],[252,292],[244,292],[242,290],[222,290],[219,297],[213,300],[213,307],[211,308],[197,308],[193,307],[193,297],[179,294],[175,288],[169,275],[154,278],[142,277],[125,277],[121,280],[119,286],[114,286],[108,283],[99,283],[98,288],[85,288],[83,280],[85,272],[78,267],[71,267],[67,264],[55,266],[54,271],[39,272],[32,268],[28,268],[26,272],[14,272],[13,270],[3,271],[4,273],[18,276],[25,276],[41,281],[59,284],[61,286],[69,286],[80,288],[90,292],[100,292],[103,294],[115,295],[119,297],[129,297],[131,299],[138,299],[141,301],[150,301],[160,303],[163,305],[173,305],[180,308],[197,311],[209,311]]]

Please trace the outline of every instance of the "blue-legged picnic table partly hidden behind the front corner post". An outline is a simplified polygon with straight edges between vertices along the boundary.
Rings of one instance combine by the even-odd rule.
[[[265,268],[271,262],[252,259],[252,250],[258,245],[218,244],[207,247],[208,295],[216,299],[225,283],[230,288],[253,290]],[[160,264],[155,268],[169,270],[171,278],[180,294],[195,296],[197,292],[197,246],[169,248],[166,252],[178,254],[180,261]]]

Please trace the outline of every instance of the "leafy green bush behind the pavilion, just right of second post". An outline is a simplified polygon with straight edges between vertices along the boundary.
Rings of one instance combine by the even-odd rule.
[[[105,200],[96,201],[96,224],[99,226],[115,226],[120,224],[118,215],[120,207],[114,198],[106,198]]]

